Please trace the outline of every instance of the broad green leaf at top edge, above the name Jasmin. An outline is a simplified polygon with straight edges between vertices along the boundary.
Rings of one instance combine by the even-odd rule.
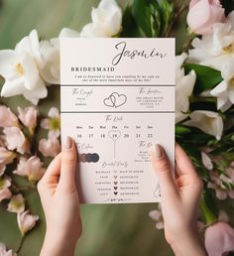
[[[161,8],[157,0],[135,0],[133,16],[146,37],[160,36]]]

